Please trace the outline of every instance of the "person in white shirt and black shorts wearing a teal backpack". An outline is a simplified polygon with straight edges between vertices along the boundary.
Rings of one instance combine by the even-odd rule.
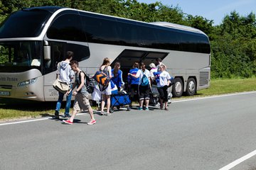
[[[150,93],[150,79],[151,74],[148,69],[146,69],[146,65],[144,62],[140,64],[139,71],[136,75],[128,73],[132,77],[139,78],[139,111],[143,110],[143,103],[145,103],[145,111],[149,111],[149,93]]]

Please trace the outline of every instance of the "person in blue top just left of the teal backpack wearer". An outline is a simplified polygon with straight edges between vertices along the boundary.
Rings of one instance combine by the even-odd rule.
[[[139,62],[134,62],[132,69],[129,70],[129,74],[136,75],[139,71]],[[134,94],[138,94],[139,89],[139,77],[132,77],[128,74],[128,89],[130,92],[130,96],[132,101],[134,101]]]

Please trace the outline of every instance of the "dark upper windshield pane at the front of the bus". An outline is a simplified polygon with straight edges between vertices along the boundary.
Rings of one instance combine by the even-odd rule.
[[[16,11],[1,23],[0,38],[37,37],[51,14],[38,9]]]

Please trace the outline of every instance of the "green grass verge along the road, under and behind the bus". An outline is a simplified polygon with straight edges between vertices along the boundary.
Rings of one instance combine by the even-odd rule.
[[[195,96],[182,98],[213,96],[243,91],[256,91],[256,78],[251,79],[212,79],[210,88],[198,91]],[[182,99],[181,98],[181,99]],[[180,98],[174,98],[174,100]],[[10,98],[0,98],[0,120],[16,118],[36,118],[54,114],[56,102],[24,101]],[[63,102],[65,106],[65,102]],[[72,108],[70,108],[70,111]],[[63,113],[64,109],[60,110]]]

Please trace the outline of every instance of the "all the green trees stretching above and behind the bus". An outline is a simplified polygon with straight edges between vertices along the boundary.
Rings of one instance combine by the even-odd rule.
[[[213,21],[203,16],[191,16],[178,6],[164,6],[159,1],[144,4],[137,0],[2,0],[0,21],[13,11],[33,6],[65,6],[138,21],[166,21],[198,28],[210,40],[211,77],[252,77],[256,74],[255,13],[240,16],[232,11],[223,17],[220,26],[213,26]]]

